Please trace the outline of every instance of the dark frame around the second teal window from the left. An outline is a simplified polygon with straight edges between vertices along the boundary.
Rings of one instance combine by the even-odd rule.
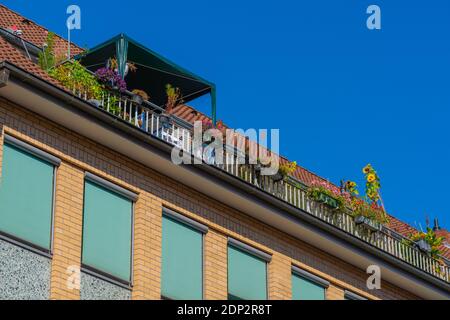
[[[113,193],[116,193],[119,196],[122,196],[128,199],[131,202],[131,248],[130,248],[130,279],[126,281],[124,279],[120,279],[115,277],[107,272],[98,270],[94,267],[86,265],[83,263],[83,248],[84,248],[84,221],[85,221],[85,201],[86,201],[86,182],[94,183],[100,187],[103,187]],[[103,179],[95,174],[90,172],[85,172],[84,174],[84,183],[83,183],[83,216],[82,216],[82,232],[81,232],[81,271],[93,276],[97,277],[101,280],[107,281],[114,285],[120,286],[122,288],[131,290],[134,286],[134,232],[135,232],[135,208],[136,202],[139,198],[139,195],[129,191],[125,188],[118,186],[106,179]]]

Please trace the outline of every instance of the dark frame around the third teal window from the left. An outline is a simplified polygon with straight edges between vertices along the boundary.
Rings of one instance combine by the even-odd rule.
[[[207,233],[209,232],[209,227],[197,222],[191,218],[188,218],[172,209],[169,209],[167,207],[163,207],[162,209],[162,216],[161,219],[164,219],[164,217],[167,217],[169,219],[175,220],[178,223],[185,225],[186,227],[190,227],[194,230],[196,230],[197,232],[199,232],[202,235],[202,300],[205,299],[205,237],[207,235]],[[162,220],[161,220],[162,221]],[[162,241],[162,230],[161,230],[161,241]],[[173,301],[173,298],[164,296],[162,294],[162,247],[161,247],[161,274],[160,274],[160,278],[161,278],[161,299],[162,300],[168,300],[168,301]]]

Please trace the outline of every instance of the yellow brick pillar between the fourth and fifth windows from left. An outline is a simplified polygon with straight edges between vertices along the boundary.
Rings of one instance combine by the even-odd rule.
[[[292,299],[292,264],[289,257],[279,253],[272,256],[269,264],[269,299]]]

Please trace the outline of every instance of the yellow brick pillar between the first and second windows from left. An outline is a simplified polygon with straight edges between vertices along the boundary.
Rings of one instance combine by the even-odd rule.
[[[84,172],[62,163],[57,170],[51,273],[52,300],[79,300]]]

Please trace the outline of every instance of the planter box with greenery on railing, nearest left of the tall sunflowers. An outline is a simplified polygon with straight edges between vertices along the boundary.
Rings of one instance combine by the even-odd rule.
[[[323,203],[333,210],[341,211],[346,207],[350,195],[327,181],[314,180],[307,191],[308,198]]]

